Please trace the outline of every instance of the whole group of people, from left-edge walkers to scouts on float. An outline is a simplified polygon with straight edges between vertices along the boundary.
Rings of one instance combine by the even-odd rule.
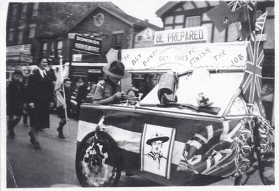
[[[40,149],[39,132],[50,128],[50,112],[56,109],[60,121],[56,130],[58,137],[65,139],[63,127],[69,116],[72,116],[75,106],[75,119],[78,120],[80,105],[90,102],[98,105],[111,105],[130,97],[143,95],[151,91],[158,84],[159,75],[146,75],[144,86],[133,86],[128,92],[121,91],[119,82],[129,76],[121,61],[113,61],[110,66],[103,67],[105,78],[98,78],[96,83],[86,83],[84,79],[77,79],[75,86],[69,78],[63,79],[63,96],[65,105],[56,107],[57,101],[54,93],[56,72],[50,65],[47,57],[40,57],[37,66],[22,66],[16,69],[11,80],[7,81],[6,103],[7,103],[7,128],[8,139],[15,139],[14,128],[23,118],[23,125],[29,126],[30,142],[33,148]],[[29,123],[28,123],[29,122]]]

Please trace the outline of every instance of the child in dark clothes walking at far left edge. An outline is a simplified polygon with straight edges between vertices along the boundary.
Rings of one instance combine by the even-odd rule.
[[[7,116],[8,116],[8,139],[15,138],[13,129],[18,122],[20,122],[23,114],[23,85],[22,85],[22,71],[15,70],[13,72],[12,82],[8,84],[6,91],[7,102]],[[15,119],[14,119],[15,117]]]

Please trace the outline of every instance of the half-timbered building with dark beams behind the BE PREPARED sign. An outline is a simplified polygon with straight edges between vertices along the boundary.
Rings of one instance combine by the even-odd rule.
[[[156,15],[163,21],[164,30],[179,29],[192,26],[206,26],[209,43],[234,41],[237,36],[236,25],[230,24],[227,29],[218,32],[214,24],[207,17],[213,6],[220,1],[169,1],[156,11]],[[263,32],[264,63],[262,67],[263,93],[274,93],[275,80],[275,39],[274,39],[274,0],[257,0],[257,17],[267,13]],[[267,89],[267,90],[266,90]],[[264,101],[266,114],[271,119],[273,99]]]

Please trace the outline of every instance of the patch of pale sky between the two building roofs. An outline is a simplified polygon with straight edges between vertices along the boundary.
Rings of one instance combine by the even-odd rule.
[[[140,20],[147,19],[150,23],[163,27],[163,22],[157,17],[156,10],[165,5],[169,0],[111,0],[128,15]]]

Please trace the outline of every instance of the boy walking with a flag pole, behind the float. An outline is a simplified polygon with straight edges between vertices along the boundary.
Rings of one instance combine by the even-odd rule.
[[[65,136],[63,135],[63,126],[66,124],[66,113],[67,112],[67,116],[69,116],[70,114],[70,84],[72,84],[72,82],[70,81],[70,78],[65,78],[63,80],[63,87],[64,87],[64,92],[65,92],[65,96],[63,96],[63,90],[60,90],[61,95],[63,96],[63,98],[65,98],[65,102],[66,105],[62,105],[59,106],[57,108],[57,115],[60,118],[60,122],[59,122],[59,126],[57,128],[58,131],[58,137],[61,139],[65,139]]]

